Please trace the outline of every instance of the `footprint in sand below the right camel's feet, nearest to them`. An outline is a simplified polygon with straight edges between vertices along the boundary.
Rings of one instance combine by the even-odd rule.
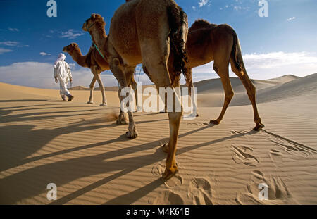
[[[235,161],[235,163],[243,163],[250,166],[256,166],[259,163],[259,160],[250,154],[253,150],[247,146],[232,145],[232,151],[232,160]]]

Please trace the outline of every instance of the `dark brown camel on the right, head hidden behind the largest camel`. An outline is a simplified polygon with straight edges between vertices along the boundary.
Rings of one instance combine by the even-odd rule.
[[[197,20],[189,28],[187,52],[189,56],[189,79],[192,78],[192,68],[214,61],[213,70],[216,71],[223,83],[225,103],[219,117],[216,120],[211,120],[210,123],[219,124],[221,122],[232,99],[233,90],[228,70],[228,65],[231,63],[232,71],[242,81],[253,106],[254,122],[256,123],[254,130],[261,130],[264,125],[261,123],[256,107],[256,88],[244,67],[240,42],[235,30],[229,25],[215,25],[206,20]],[[189,82],[189,87],[194,87],[192,81]]]

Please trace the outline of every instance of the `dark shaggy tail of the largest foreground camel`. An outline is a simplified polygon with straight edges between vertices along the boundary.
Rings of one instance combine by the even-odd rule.
[[[187,70],[188,56],[186,50],[186,41],[188,34],[188,18],[187,14],[182,11],[180,6],[173,4],[168,7],[168,23],[170,25],[170,50],[174,55],[175,75],[170,75],[172,84],[175,80],[180,79],[183,74],[186,83],[191,80]]]

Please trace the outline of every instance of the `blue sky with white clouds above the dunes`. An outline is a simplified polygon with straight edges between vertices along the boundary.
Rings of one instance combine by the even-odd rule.
[[[106,20],[125,0],[56,0],[57,18],[48,18],[46,0],[0,0],[0,81],[32,87],[56,88],[52,66],[63,46],[77,42],[86,54],[90,36],[82,23],[91,13]],[[228,23],[237,32],[250,77],[268,79],[285,74],[317,72],[317,1],[268,0],[268,18],[260,18],[258,0],[178,0],[189,17],[211,23]],[[70,56],[75,85],[88,86],[89,70]],[[216,77],[209,65],[194,69],[194,80]],[[233,75],[232,75],[233,76]],[[103,73],[107,86],[116,85],[110,72]],[[141,80],[149,82],[146,75]]]

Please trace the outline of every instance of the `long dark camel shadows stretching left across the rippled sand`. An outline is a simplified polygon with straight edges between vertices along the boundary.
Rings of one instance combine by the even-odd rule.
[[[17,118],[15,118],[15,120],[16,119]],[[142,123],[150,122],[153,121],[144,121]],[[114,126],[116,126],[116,123],[96,125],[92,124],[92,121],[83,121],[53,130],[32,130],[34,128],[33,125],[8,125],[0,127],[0,150],[1,152],[3,152],[0,156],[2,161],[0,161],[1,171],[25,163],[40,161],[43,158],[48,158],[51,156],[66,154],[73,151],[80,151],[83,149],[91,149],[97,146],[106,146],[107,144],[111,144],[113,142],[128,141],[128,139],[126,139],[125,135],[123,134],[105,142],[87,144],[85,146],[65,149],[63,151],[58,151],[51,154],[45,154],[33,158],[26,158],[27,156],[30,156],[30,154],[39,150],[40,148],[42,148],[42,146],[61,134],[82,132],[85,130],[97,130],[104,127]],[[200,127],[197,130],[192,130],[190,132],[180,134],[179,137],[185,137],[189,134],[193,134],[195,132],[199,132],[211,127],[213,127],[213,125],[206,125],[204,127]],[[254,133],[256,132],[251,131],[246,134]],[[213,140],[211,142],[187,146],[186,148],[178,149],[177,154],[183,154],[194,149],[199,149],[204,146],[210,146],[212,144],[223,142],[228,139],[233,139],[235,137],[241,137],[246,134],[234,134],[228,137]],[[29,136],[32,139],[36,139],[36,142],[33,142],[30,139],[19,139],[18,136]],[[19,145],[20,141],[25,141],[23,143],[23,148],[21,148],[21,146]],[[162,161],[166,158],[166,154],[164,154],[158,146],[161,145],[161,142],[167,141],[168,139],[160,139],[154,142],[147,142],[146,144],[118,149],[116,151],[108,151],[106,153],[93,156],[70,158],[66,161],[58,161],[55,163],[39,165],[23,170],[19,173],[14,173],[13,175],[9,175],[8,177],[4,177],[0,180],[0,204],[16,204],[18,201],[21,201],[23,199],[37,196],[43,192],[46,192],[46,185],[51,182],[54,182],[58,187],[61,187],[64,184],[73,182],[74,180],[83,177],[89,177],[101,173],[118,172],[113,175],[109,175],[108,177],[99,180],[98,182],[89,184],[87,187],[78,189],[75,192],[67,194],[61,199],[58,199],[57,201],[51,203],[66,204],[68,203],[68,201],[71,201],[78,196],[81,196],[82,194],[92,191],[93,189],[96,189],[97,187],[100,187],[107,182],[111,182],[118,177],[127,175],[128,173],[131,173],[132,171],[139,168],[143,168],[144,166],[152,165],[156,162]],[[139,151],[146,151],[155,148],[158,149],[154,154],[145,154],[142,156],[133,156],[129,158],[113,160],[113,158],[116,158],[118,156],[125,156],[127,154],[134,154]],[[15,151],[18,151],[18,153],[15,153]],[[86,168],[87,166],[89,166],[89,168]],[[160,180],[155,180],[154,182],[151,182],[150,184],[147,184],[144,187],[135,190],[134,192],[130,192],[128,194],[124,194],[123,196],[118,196],[115,199],[108,200],[105,204],[132,204],[133,202],[142,198],[142,196],[147,195],[149,192],[159,187],[161,183],[162,182]]]

